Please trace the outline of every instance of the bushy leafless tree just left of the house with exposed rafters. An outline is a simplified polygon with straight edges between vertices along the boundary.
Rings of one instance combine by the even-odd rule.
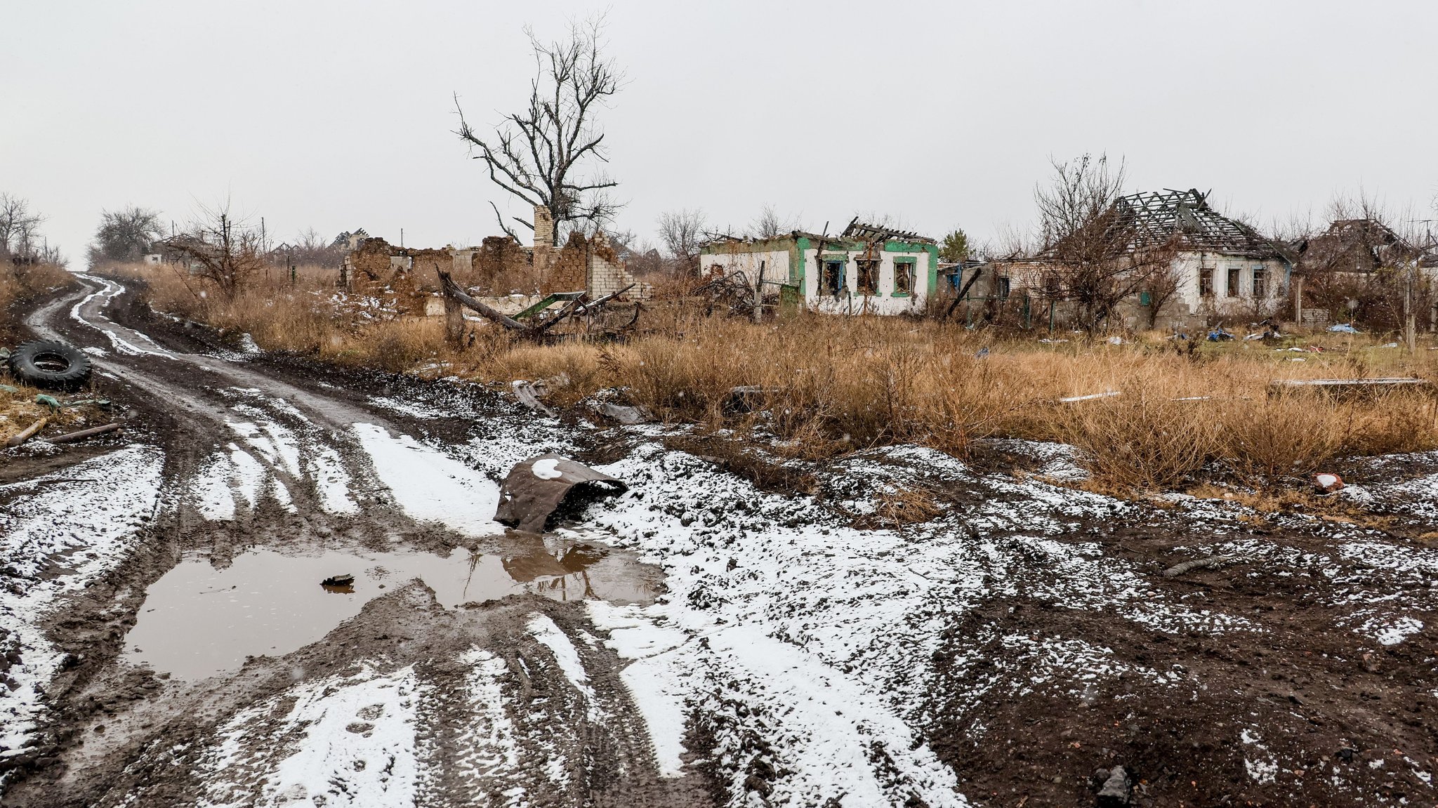
[[[1077,302],[1080,325],[1093,332],[1120,300],[1171,270],[1176,244],[1136,244],[1132,216],[1117,204],[1126,180],[1122,161],[1084,154],[1054,160],[1053,167],[1050,184],[1034,188],[1043,254],[1063,293]]]

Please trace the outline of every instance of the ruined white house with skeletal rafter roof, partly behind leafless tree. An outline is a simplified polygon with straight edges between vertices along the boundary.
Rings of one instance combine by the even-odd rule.
[[[1198,190],[1139,193],[1113,203],[1104,223],[1113,259],[1162,256],[1119,303],[1126,328],[1194,329],[1225,319],[1263,319],[1287,302],[1291,253],[1252,227],[1225,217]],[[982,272],[979,272],[982,270]],[[1011,300],[1030,321],[1063,321],[1073,309],[1064,267],[1051,254],[959,267],[951,282],[979,273],[969,296]],[[1021,302],[1020,302],[1021,300]]]

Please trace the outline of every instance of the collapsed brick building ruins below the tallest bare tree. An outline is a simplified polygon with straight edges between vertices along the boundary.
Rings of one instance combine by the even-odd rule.
[[[627,286],[633,289],[620,299],[646,293],[647,286],[636,285],[603,230],[594,236],[572,231],[562,247],[554,244],[552,233],[549,210],[536,207],[532,246],[509,236],[489,236],[479,246],[439,249],[398,247],[365,237],[345,256],[339,279],[355,292],[394,293],[406,313],[426,311],[423,298],[439,289],[436,270],[452,273],[462,286],[483,295],[588,292],[597,299]]]

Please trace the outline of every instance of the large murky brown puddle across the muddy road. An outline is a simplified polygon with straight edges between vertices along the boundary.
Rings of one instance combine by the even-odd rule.
[[[325,587],[335,575],[345,587]],[[203,679],[237,670],[246,656],[283,656],[322,640],[372,598],[418,578],[446,608],[532,592],[555,600],[653,601],[657,569],[610,548],[545,545],[533,538],[513,555],[449,558],[421,552],[285,555],[253,549],[226,569],[187,558],[145,591],[125,656],[157,673]]]

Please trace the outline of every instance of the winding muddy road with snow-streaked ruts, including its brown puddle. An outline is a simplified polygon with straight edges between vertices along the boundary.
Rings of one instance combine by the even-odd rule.
[[[10,539],[49,551],[9,605],[53,615],[55,646],[10,637],[12,671],[33,657],[43,680],[60,654],[10,716],[12,740],[35,730],[7,750],[6,805],[697,799],[659,778],[584,611],[651,602],[661,574],[592,536],[506,536],[490,474],[523,443],[475,469],[364,391],[128,328],[118,283],[82,283],[27,325],[86,346],[141,440],[13,460],[73,482],[6,490]],[[109,546],[82,549],[96,520]]]

